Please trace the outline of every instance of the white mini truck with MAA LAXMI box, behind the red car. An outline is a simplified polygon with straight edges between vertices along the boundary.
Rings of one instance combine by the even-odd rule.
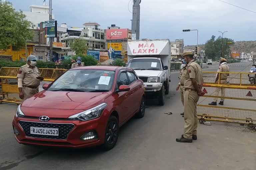
[[[169,93],[171,42],[164,40],[128,41],[127,67],[135,70],[144,82],[146,96],[156,96],[164,105]]]

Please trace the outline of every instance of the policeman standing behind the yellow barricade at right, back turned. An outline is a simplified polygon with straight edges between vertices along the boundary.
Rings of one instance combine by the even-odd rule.
[[[220,66],[219,66],[217,72],[229,72],[229,66],[228,66],[227,60],[225,58],[221,58]],[[228,73],[217,73],[215,83],[219,83],[219,75],[220,75],[220,84],[227,83],[227,78],[229,76]],[[215,90],[215,96],[219,96],[220,91],[221,91],[221,96],[225,96],[225,88],[217,88],[217,90]],[[216,106],[217,101],[218,101],[218,99],[214,98],[213,102],[209,103],[209,105]],[[219,105],[224,105],[224,98],[220,99]]]

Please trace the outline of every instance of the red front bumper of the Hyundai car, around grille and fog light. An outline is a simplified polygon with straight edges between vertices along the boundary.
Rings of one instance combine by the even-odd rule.
[[[38,119],[37,119],[38,120]],[[36,119],[14,118],[12,125],[18,130],[18,134],[14,132],[15,139],[21,144],[41,145],[41,146],[61,146],[61,147],[90,147],[104,143],[105,128],[107,122],[102,118],[93,119],[90,121],[48,121],[43,123]],[[107,120],[107,119],[106,119]],[[35,124],[70,124],[74,127],[68,132],[66,139],[50,139],[41,137],[31,137],[30,132],[23,129],[21,123],[33,122]],[[59,130],[60,131],[60,130]],[[89,140],[82,140],[80,137],[90,131],[96,132],[96,137]],[[43,135],[41,135],[43,136]]]

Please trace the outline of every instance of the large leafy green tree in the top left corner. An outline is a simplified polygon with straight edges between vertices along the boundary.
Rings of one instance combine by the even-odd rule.
[[[34,25],[25,17],[22,11],[15,11],[12,3],[0,2],[0,49],[7,50],[10,45],[19,49],[27,40],[33,41],[34,33],[29,28]]]

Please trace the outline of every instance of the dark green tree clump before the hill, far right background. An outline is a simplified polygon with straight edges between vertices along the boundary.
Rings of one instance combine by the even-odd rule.
[[[228,57],[230,51],[230,44],[227,42],[234,43],[234,40],[223,38],[223,56]],[[222,37],[219,36],[215,40],[215,36],[212,36],[210,40],[205,43],[205,54],[208,58],[213,60],[218,60],[221,57],[221,49],[222,49]]]

